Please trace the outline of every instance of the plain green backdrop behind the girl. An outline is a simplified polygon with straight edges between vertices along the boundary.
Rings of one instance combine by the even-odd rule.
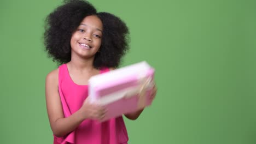
[[[158,94],[129,143],[256,143],[256,1],[90,1],[130,28],[121,66],[147,61]],[[44,19],[62,1],[0,1],[0,142],[53,143]]]

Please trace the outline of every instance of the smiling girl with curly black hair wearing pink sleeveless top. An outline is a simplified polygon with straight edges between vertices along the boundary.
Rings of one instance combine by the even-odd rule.
[[[123,117],[98,122],[107,110],[90,104],[91,76],[117,68],[128,47],[128,28],[118,17],[97,13],[85,1],[66,1],[46,19],[45,49],[60,65],[45,80],[46,106],[54,143],[127,143]],[[156,88],[152,93],[155,97]],[[143,110],[127,113],[136,119]]]

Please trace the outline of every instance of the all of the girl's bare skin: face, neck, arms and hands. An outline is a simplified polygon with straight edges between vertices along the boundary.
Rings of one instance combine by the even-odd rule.
[[[71,61],[67,63],[69,75],[77,85],[88,85],[91,76],[100,74],[100,70],[93,67],[95,53],[99,51],[102,37],[102,22],[97,16],[86,16],[71,38]],[[113,68],[111,68],[113,69]],[[65,136],[79,126],[85,119],[101,120],[107,110],[85,99],[82,107],[69,117],[64,117],[61,99],[58,91],[59,69],[51,71],[45,79],[46,108],[53,133],[57,137]],[[156,87],[151,95],[156,94]],[[127,113],[129,119],[137,119],[142,110]]]

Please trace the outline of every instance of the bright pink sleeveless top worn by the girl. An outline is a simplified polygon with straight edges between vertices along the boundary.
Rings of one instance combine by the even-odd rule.
[[[108,72],[101,69],[101,74]],[[67,65],[59,67],[59,93],[65,117],[69,117],[83,105],[88,97],[88,86],[77,85],[69,76]],[[123,117],[98,122],[86,119],[74,131],[64,137],[54,136],[54,144],[127,144],[128,136]]]

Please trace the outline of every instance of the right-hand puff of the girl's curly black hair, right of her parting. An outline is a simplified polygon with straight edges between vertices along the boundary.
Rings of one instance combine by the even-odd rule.
[[[100,52],[96,53],[94,65],[118,67],[121,57],[129,50],[129,29],[119,17],[102,12],[97,16],[103,23]]]

